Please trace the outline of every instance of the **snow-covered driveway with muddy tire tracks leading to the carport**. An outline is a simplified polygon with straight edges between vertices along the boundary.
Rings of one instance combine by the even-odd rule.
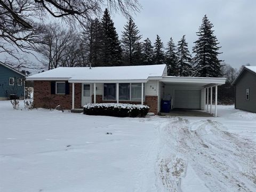
[[[255,142],[214,118],[173,117],[158,129],[158,191],[255,191]]]

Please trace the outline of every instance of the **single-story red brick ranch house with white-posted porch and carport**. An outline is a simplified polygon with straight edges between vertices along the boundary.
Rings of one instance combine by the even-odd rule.
[[[65,109],[81,108],[86,103],[117,102],[146,104],[150,112],[157,114],[166,95],[171,98],[172,108],[204,110],[206,90],[209,98],[209,87],[217,88],[226,78],[167,76],[166,65],[149,65],[59,67],[27,80],[34,81],[35,107],[46,107],[49,100],[44,102],[44,98],[51,98]]]

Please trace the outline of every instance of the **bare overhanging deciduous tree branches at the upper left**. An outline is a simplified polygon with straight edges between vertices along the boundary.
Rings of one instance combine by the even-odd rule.
[[[83,27],[105,6],[127,17],[140,8],[138,0],[0,0],[0,54],[23,62],[19,53],[33,54],[31,51],[41,43],[44,19],[49,15]]]

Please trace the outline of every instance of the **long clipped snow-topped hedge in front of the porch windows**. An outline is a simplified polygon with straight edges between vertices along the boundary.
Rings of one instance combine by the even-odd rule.
[[[89,103],[84,106],[86,115],[106,115],[114,117],[145,117],[149,107],[126,103]]]

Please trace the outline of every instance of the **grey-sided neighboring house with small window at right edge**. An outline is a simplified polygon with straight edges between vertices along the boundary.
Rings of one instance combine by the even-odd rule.
[[[256,113],[256,66],[246,66],[232,83],[235,108]]]

